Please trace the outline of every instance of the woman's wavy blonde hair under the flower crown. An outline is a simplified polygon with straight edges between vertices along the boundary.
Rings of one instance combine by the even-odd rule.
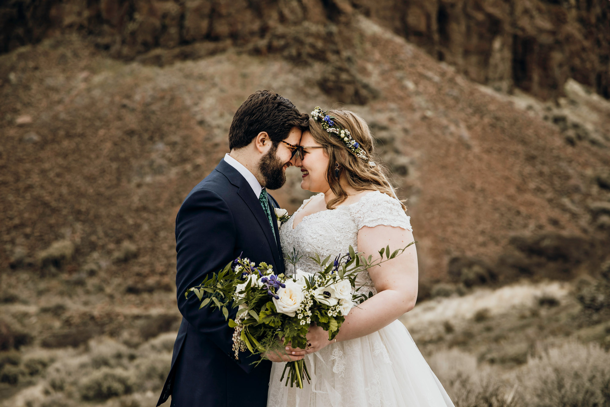
[[[351,133],[351,137],[367,151],[369,160],[375,161],[373,135],[371,135],[368,124],[362,117],[347,109],[331,109],[326,114],[334,116],[335,118],[332,120],[336,125],[348,130]],[[340,140],[336,134],[326,132],[320,125],[320,122],[315,121],[313,118],[309,119],[309,131],[314,140],[324,147],[329,157],[326,179],[336,197],[326,204],[326,209],[334,209],[334,207],[341,204],[348,197],[348,193],[345,192],[339,183],[339,178],[335,176],[335,168],[339,164],[339,177],[341,174],[345,175],[345,180],[350,187],[357,191],[378,190],[379,192],[386,193],[398,200],[404,211],[406,211],[406,206],[398,199],[392,184],[387,179],[385,167],[378,162],[376,162],[375,167],[371,167],[368,165],[368,161],[354,156],[347,149],[343,140]]]

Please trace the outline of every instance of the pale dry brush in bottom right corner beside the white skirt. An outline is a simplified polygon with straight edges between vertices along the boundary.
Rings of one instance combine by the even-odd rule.
[[[526,364],[508,372],[456,349],[428,362],[456,407],[610,406],[610,353],[597,344],[540,345]]]

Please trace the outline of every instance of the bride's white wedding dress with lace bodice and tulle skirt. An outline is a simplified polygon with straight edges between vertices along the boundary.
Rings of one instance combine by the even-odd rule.
[[[309,200],[303,201],[298,211]],[[293,220],[294,214],[279,230],[284,257],[296,248],[304,255],[298,268],[310,272],[319,267],[307,256],[318,253],[321,258],[329,254],[334,258],[346,253],[350,245],[357,251],[358,231],[363,226],[412,230],[400,203],[377,191],[367,193],[357,203],[307,215],[296,228]],[[285,268],[287,272],[293,269],[288,262]],[[360,292],[376,294],[366,271],[357,276],[359,286]],[[307,355],[305,361],[312,381],[304,383],[303,389],[284,386],[279,380],[284,362],[273,363],[268,407],[453,407],[398,320],[367,336],[328,345]]]

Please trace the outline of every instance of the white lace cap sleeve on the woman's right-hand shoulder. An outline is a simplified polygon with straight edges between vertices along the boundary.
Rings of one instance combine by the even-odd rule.
[[[397,226],[408,231],[411,228],[411,217],[404,213],[403,206],[396,198],[379,191],[369,192],[351,206],[351,216],[358,229],[378,225]]]

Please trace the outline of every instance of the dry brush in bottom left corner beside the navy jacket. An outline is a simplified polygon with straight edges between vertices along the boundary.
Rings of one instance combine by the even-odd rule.
[[[111,403],[117,407],[150,404],[170,369],[175,333],[129,348],[110,338],[92,339],[80,349],[37,349],[2,369],[6,380],[38,376],[1,406],[71,407]],[[29,369],[29,370],[28,370]]]

